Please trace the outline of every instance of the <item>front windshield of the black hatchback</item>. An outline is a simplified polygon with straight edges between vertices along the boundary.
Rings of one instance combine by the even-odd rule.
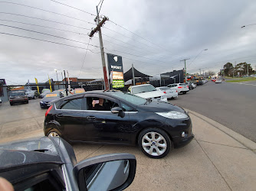
[[[146,99],[143,99],[136,95],[132,95],[130,93],[124,93],[124,92],[107,92],[107,93],[117,98],[124,99],[127,102],[131,102],[134,105],[143,105],[146,103]]]

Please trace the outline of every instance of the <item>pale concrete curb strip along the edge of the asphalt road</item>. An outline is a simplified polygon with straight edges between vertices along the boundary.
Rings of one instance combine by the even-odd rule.
[[[254,152],[254,154],[256,154],[256,143],[254,143],[254,141],[251,141],[250,139],[245,138],[243,135],[238,134],[237,132],[231,130],[230,128],[227,128],[224,125],[221,125],[220,123],[205,117],[204,115],[201,115],[197,112],[193,112],[187,108],[185,108],[185,111],[188,111],[192,115],[195,115],[196,117],[201,118],[203,121],[206,121],[208,124],[212,125],[213,127],[218,128],[218,130],[224,132],[225,134],[228,134],[229,137],[234,138],[235,141],[238,141],[240,144],[247,147],[248,150],[251,150]]]

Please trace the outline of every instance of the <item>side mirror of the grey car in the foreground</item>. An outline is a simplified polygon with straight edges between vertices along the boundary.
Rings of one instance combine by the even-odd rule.
[[[80,190],[123,190],[134,180],[133,154],[105,154],[83,160],[74,167]]]

